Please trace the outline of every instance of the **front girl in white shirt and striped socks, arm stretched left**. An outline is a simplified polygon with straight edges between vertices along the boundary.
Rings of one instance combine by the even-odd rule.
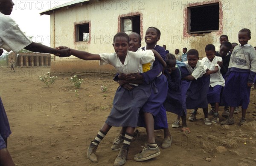
[[[160,57],[155,50],[144,52],[128,51],[129,36],[124,32],[117,33],[114,36],[113,42],[115,53],[112,54],[91,54],[74,49],[71,49],[71,54],[84,60],[100,60],[101,65],[111,64],[116,68],[118,73],[124,74],[142,72],[142,63],[153,61],[153,54],[158,58]],[[59,47],[59,49],[63,48],[65,47]],[[134,85],[131,91],[119,86],[116,90],[110,115],[87,149],[87,158],[89,160],[93,163],[98,162],[95,154],[96,149],[112,126],[124,126],[127,127],[124,142],[114,165],[121,166],[125,164],[134,129],[137,126],[138,114],[151,94],[151,85],[151,83]]]

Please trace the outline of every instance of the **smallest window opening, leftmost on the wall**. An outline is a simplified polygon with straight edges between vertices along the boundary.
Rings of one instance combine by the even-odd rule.
[[[76,41],[89,41],[89,23],[76,25]]]

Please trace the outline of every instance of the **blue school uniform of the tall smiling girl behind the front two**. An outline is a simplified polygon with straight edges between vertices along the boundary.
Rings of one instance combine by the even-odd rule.
[[[145,47],[142,49],[145,50]],[[154,50],[161,55],[163,60],[166,60],[166,51],[163,47],[156,45]],[[141,109],[137,126],[145,127],[142,112],[148,112],[154,117],[155,129],[168,128],[166,109],[163,107],[163,102],[167,96],[168,83],[166,77],[162,74],[162,71],[163,65],[158,60],[155,60],[152,69],[142,73],[146,84],[153,83],[153,90],[151,96]]]

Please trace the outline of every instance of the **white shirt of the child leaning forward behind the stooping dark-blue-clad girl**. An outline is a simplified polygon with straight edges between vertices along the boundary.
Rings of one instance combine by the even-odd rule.
[[[188,61],[185,62],[189,74],[191,74],[197,80],[199,77],[202,77],[206,73],[207,66],[204,65],[202,60],[198,60],[194,69],[189,65]]]

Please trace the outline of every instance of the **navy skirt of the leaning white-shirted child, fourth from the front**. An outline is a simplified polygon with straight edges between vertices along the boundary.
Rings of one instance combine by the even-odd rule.
[[[203,76],[197,80],[192,80],[186,92],[186,108],[207,108],[207,93],[210,86],[210,76]]]

